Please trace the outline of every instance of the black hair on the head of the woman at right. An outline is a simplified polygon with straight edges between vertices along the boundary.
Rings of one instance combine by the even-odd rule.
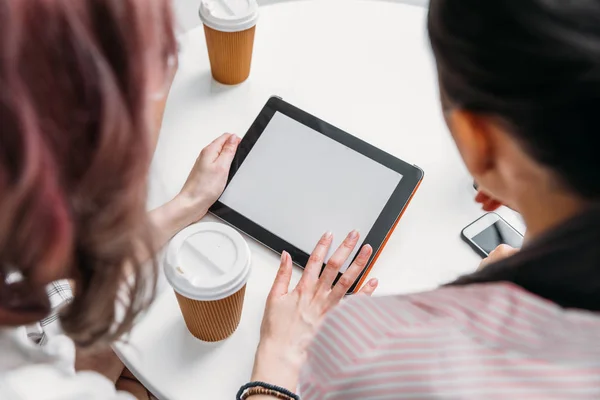
[[[492,116],[572,192],[600,200],[600,2],[431,0],[450,104]]]

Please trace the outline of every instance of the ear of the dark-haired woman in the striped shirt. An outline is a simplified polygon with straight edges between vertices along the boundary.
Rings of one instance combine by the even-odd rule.
[[[467,169],[477,179],[495,165],[493,123],[470,111],[446,112],[446,120]]]

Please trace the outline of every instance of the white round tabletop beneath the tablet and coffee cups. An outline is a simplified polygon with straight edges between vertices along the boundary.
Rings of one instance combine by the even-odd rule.
[[[425,179],[371,276],[377,295],[422,291],[472,272],[479,257],[460,239],[482,215],[472,180],[444,124],[424,8],[380,1],[318,0],[261,8],[252,72],[227,87],[212,80],[202,27],[182,38],[153,164],[150,203],[183,185],[198,152],[222,132],[243,135],[271,95],[425,170]],[[509,210],[501,214],[518,229]],[[208,217],[210,219],[210,217]],[[315,238],[317,240],[318,238]],[[248,239],[253,270],[239,329],[202,343],[175,296],[160,293],[126,344],[129,369],[160,399],[233,399],[248,381],[278,256]],[[294,273],[294,282],[300,276]]]

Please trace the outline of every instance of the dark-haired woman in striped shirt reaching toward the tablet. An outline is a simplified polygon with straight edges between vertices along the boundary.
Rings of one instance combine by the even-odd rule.
[[[600,1],[430,0],[428,26],[478,199],[517,209],[525,245],[327,316],[315,279],[287,293],[284,256],[242,398],[600,398]]]

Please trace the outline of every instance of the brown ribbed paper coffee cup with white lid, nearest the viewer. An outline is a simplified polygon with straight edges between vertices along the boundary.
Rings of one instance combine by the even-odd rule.
[[[182,230],[167,249],[165,275],[192,335],[217,342],[235,332],[250,275],[250,249],[235,229],[200,223]]]

